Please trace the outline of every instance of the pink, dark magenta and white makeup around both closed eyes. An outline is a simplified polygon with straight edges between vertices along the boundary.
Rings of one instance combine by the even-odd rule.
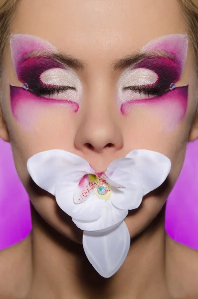
[[[22,87],[10,85],[11,110],[23,129],[30,131],[35,129],[37,119],[43,118],[45,111],[48,110],[46,105],[54,104],[52,106],[54,107],[67,104],[67,107],[62,105],[62,109],[70,108],[74,112],[78,111],[82,102],[81,83],[71,67],[49,58],[49,55],[53,55],[51,53],[58,55],[57,49],[54,49],[49,42],[29,34],[12,35],[10,49],[18,80],[21,83],[26,82],[25,84],[28,85],[28,92]],[[149,49],[149,52],[146,52],[146,49]],[[155,120],[159,122],[160,119],[167,129],[174,130],[174,125],[177,126],[186,115],[188,85],[176,87],[175,91],[170,91],[169,87],[172,82],[176,84],[181,78],[187,50],[188,36],[184,34],[165,35],[143,47],[141,52],[149,57],[131,64],[119,79],[117,100],[121,113],[123,115],[130,114],[132,104],[138,104],[140,108],[142,105],[148,104],[148,107],[144,109],[144,106],[143,109],[149,112],[149,108],[151,108],[152,115],[155,110],[157,112]],[[36,53],[32,54],[33,51]],[[42,51],[44,51],[45,57],[40,56]],[[164,56],[162,56],[163,54],[159,56],[160,53],[164,53]],[[170,57],[166,55],[170,55]],[[70,86],[71,88],[48,96],[46,94],[44,94],[45,96],[43,94],[32,95],[38,85],[42,85],[43,88],[46,84]],[[148,95],[144,92],[140,94],[128,87],[136,85],[157,88],[156,84],[161,86],[162,95]],[[68,104],[70,105],[68,106]],[[134,109],[132,112],[134,113]],[[149,117],[152,116],[149,115]]]

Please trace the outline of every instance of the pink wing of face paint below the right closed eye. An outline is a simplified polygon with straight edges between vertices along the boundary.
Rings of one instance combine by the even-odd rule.
[[[138,114],[144,111],[144,117],[150,123],[163,130],[172,131],[182,122],[188,106],[188,86],[177,87],[167,94],[142,100],[128,100],[121,105],[121,113],[124,116]]]

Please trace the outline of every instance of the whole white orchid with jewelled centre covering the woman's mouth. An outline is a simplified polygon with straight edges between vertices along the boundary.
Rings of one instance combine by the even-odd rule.
[[[167,178],[171,161],[162,153],[138,149],[97,173],[83,158],[61,149],[36,153],[28,172],[42,189],[55,196],[59,207],[83,230],[85,254],[103,277],[115,274],[130,247],[125,224],[129,210]]]

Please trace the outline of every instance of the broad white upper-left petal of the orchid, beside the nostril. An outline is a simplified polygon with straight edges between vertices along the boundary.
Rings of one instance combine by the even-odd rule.
[[[76,177],[78,181],[85,173],[92,173],[93,169],[83,158],[63,149],[51,149],[38,152],[27,161],[28,172],[33,181],[52,195],[58,182],[66,176],[71,181]],[[71,173],[68,176],[68,173]],[[72,176],[72,177],[71,177]]]

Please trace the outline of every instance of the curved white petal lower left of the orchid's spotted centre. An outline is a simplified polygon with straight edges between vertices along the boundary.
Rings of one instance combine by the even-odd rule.
[[[62,183],[55,190],[56,202],[69,216],[79,221],[93,221],[102,215],[102,202],[96,196],[76,204],[73,200],[74,190],[78,185]]]

